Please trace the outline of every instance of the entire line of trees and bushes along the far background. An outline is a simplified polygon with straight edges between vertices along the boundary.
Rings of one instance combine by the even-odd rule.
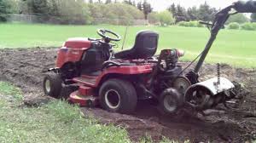
[[[180,21],[211,21],[218,9],[208,3],[198,8],[183,8],[172,3],[162,12],[154,12],[147,0],[136,3],[134,0],[0,0],[0,21],[7,20],[9,14],[32,14],[40,16],[40,22],[56,24],[97,24],[99,19],[108,19],[108,23],[131,24],[132,20],[149,20],[152,24],[170,25]],[[115,20],[120,20],[116,22]],[[252,14],[256,21],[256,15]],[[230,17],[228,22],[244,23],[248,19],[244,14]]]

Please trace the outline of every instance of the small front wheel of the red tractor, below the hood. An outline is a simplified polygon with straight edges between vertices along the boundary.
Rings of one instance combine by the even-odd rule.
[[[44,77],[44,94],[49,95],[54,98],[58,98],[61,93],[61,76],[58,74],[47,74]]]

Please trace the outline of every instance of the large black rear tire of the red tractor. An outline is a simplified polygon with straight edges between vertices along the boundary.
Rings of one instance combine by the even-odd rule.
[[[102,108],[109,112],[129,114],[137,106],[137,93],[133,85],[125,80],[109,79],[99,92]]]

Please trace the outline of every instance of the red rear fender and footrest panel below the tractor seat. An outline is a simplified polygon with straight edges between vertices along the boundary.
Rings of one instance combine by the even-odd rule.
[[[93,88],[96,88],[99,83],[102,80],[102,77],[105,77],[108,74],[123,74],[123,75],[137,75],[137,74],[143,74],[143,73],[150,73],[152,72],[152,66],[153,64],[147,64],[147,65],[140,65],[140,66],[113,66],[109,67],[107,70],[103,71],[101,75],[97,77],[91,77],[91,76],[86,76],[83,75],[82,78],[90,78],[94,79],[94,83],[87,83],[84,82],[81,77],[78,78],[73,78],[73,81],[76,83],[83,83],[85,86],[90,86]]]

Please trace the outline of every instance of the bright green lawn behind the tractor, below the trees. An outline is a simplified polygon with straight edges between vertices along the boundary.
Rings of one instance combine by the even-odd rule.
[[[30,48],[61,46],[68,37],[98,37],[97,28],[106,28],[124,36],[125,26],[51,26],[26,24],[0,24],[0,48]],[[160,33],[160,49],[184,49],[183,60],[192,60],[201,53],[210,36],[207,28],[131,26],[125,49],[133,43],[137,31],[150,29]],[[256,31],[223,30],[213,44],[207,62],[228,63],[233,66],[256,67]],[[122,42],[119,42],[121,47]],[[117,49],[117,50],[120,50]]]

